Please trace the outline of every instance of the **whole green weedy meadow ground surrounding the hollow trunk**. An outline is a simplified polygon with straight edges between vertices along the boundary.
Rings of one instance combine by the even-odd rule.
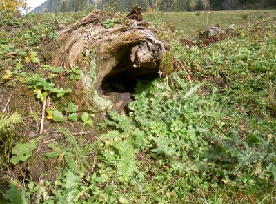
[[[0,203],[276,202],[275,10],[144,14],[188,71],[139,81],[124,114],[83,103],[81,67],[50,66],[84,15],[0,13]],[[217,24],[235,30],[197,41]]]

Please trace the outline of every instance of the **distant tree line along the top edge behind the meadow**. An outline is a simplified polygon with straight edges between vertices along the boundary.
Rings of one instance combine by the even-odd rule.
[[[17,11],[26,7],[26,0],[0,0],[0,11]],[[92,8],[129,11],[138,4],[143,11],[164,12],[200,10],[247,10],[276,8],[276,0],[48,0],[34,9],[34,12],[77,12]]]

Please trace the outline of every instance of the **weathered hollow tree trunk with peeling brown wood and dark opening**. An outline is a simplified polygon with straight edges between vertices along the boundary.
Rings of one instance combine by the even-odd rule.
[[[50,45],[52,65],[79,66],[88,97],[100,110],[114,105],[111,99],[118,101],[120,93],[133,92],[138,79],[158,77],[166,52],[149,23],[124,18],[105,28],[106,19],[114,17],[94,10]]]

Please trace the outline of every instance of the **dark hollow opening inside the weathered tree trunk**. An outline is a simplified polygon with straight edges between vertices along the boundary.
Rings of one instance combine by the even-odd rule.
[[[152,81],[159,76],[159,68],[154,63],[134,67],[130,60],[131,46],[119,54],[119,63],[103,78],[101,82],[102,94],[135,92],[138,80]]]

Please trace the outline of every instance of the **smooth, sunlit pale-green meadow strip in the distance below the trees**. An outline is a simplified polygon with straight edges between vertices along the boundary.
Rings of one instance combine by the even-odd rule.
[[[246,27],[267,17],[276,17],[276,10],[144,13],[146,21],[172,23],[190,38],[197,37],[199,30],[210,26],[219,25],[228,28],[231,24],[235,24],[235,26]]]

